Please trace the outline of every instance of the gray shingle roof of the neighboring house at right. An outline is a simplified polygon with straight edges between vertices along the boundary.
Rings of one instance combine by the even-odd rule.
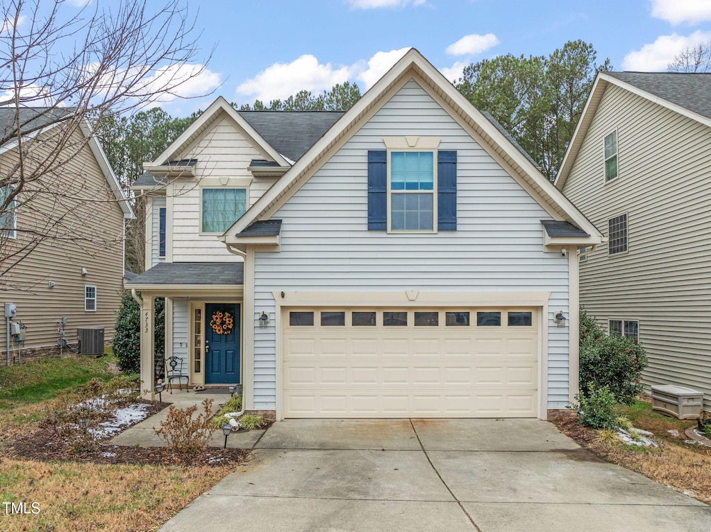
[[[605,74],[711,118],[711,74],[680,72],[605,72]]]

